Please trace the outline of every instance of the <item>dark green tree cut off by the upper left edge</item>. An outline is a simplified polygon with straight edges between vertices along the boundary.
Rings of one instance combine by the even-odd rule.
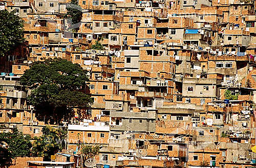
[[[24,42],[23,27],[24,21],[15,15],[15,10],[0,11],[0,56],[6,56]]]

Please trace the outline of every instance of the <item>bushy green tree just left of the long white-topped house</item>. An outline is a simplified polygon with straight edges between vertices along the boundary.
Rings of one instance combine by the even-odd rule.
[[[42,128],[42,136],[35,137],[33,142],[33,156],[44,157],[44,160],[51,160],[51,155],[56,154],[65,148],[67,131],[55,129],[50,126]]]

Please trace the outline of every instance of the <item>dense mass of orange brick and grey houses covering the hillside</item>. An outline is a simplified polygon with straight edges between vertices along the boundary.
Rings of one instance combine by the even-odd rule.
[[[94,101],[86,117],[55,126],[68,130],[67,153],[99,145],[97,167],[256,166],[254,1],[78,0],[76,32],[64,0],[3,2],[24,19],[27,44],[0,76],[1,124],[41,134],[50,123],[19,78],[34,61],[63,58],[88,70]]]

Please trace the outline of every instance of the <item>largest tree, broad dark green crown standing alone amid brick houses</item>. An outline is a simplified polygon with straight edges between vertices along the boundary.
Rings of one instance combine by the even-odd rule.
[[[73,108],[86,108],[92,99],[85,93],[87,71],[64,59],[34,62],[20,78],[32,91],[27,102],[34,105],[38,118],[57,124],[73,115]],[[56,124],[55,123],[55,124]]]

